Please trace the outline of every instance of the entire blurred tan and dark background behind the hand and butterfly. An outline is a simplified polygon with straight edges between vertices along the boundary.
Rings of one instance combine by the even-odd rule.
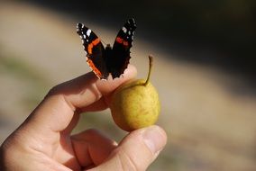
[[[155,57],[158,124],[167,147],[148,170],[256,170],[256,1],[1,1],[0,143],[53,85],[90,71],[76,23],[106,43],[137,22],[138,77]],[[75,132],[97,128],[119,141],[108,110],[84,113]]]

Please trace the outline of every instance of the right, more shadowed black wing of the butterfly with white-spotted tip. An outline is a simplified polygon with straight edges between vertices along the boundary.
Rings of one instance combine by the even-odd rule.
[[[106,58],[107,67],[113,78],[121,76],[129,64],[135,29],[136,23],[132,18],[124,23],[123,28],[117,33],[112,55]]]

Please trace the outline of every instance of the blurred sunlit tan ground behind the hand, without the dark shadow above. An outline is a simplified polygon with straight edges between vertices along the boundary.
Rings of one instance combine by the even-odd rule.
[[[76,34],[80,20],[28,4],[0,5],[1,143],[50,87],[90,71]],[[105,42],[113,42],[120,27],[109,31],[86,16],[82,22]],[[171,59],[172,54],[135,38],[131,63],[139,77],[146,76],[149,53],[155,56],[151,82],[160,93],[158,124],[169,136],[149,170],[256,170],[256,98],[242,80]],[[126,134],[109,111],[85,113],[76,131],[87,128],[117,140]]]

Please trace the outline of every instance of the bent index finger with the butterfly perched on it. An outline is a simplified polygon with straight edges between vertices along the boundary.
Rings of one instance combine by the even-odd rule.
[[[105,109],[104,96],[111,94],[123,82],[136,76],[136,68],[129,66],[123,76],[112,80],[99,80],[94,73],[87,73],[57,85],[32,112],[26,125],[33,130],[61,131],[68,127],[74,112]],[[42,132],[41,132],[42,133]]]

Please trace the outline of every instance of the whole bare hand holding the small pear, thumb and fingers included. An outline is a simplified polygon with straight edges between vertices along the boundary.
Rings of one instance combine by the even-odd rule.
[[[159,126],[133,130],[119,144],[98,130],[70,135],[80,112],[104,110],[114,89],[135,76],[129,66],[114,80],[87,73],[53,87],[1,145],[0,170],[146,170],[167,141]]]

